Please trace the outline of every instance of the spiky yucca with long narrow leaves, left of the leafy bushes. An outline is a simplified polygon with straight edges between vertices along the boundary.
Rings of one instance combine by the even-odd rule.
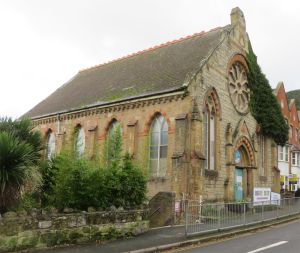
[[[7,126],[8,122],[4,124]],[[26,182],[40,177],[37,167],[39,147],[22,140],[26,139],[25,132],[24,138],[20,138],[16,131],[14,128],[0,131],[0,212],[16,203]]]

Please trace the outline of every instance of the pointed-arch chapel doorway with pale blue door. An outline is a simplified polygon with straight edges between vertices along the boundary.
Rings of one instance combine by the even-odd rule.
[[[234,152],[234,199],[251,199],[253,193],[254,155],[250,143],[243,138]]]

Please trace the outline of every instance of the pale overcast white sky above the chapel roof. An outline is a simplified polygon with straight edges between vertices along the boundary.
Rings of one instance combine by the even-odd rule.
[[[0,117],[23,115],[81,69],[225,26],[237,6],[271,86],[300,89],[296,0],[0,0]]]

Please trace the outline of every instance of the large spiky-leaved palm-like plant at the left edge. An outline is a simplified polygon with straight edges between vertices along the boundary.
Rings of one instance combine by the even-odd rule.
[[[41,138],[29,120],[0,119],[0,211],[16,204],[26,184],[40,182]]]

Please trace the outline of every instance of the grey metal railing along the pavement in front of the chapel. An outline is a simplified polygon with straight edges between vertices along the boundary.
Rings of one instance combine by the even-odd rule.
[[[300,198],[218,204],[186,201],[185,205],[187,236],[257,224],[300,213]]]

